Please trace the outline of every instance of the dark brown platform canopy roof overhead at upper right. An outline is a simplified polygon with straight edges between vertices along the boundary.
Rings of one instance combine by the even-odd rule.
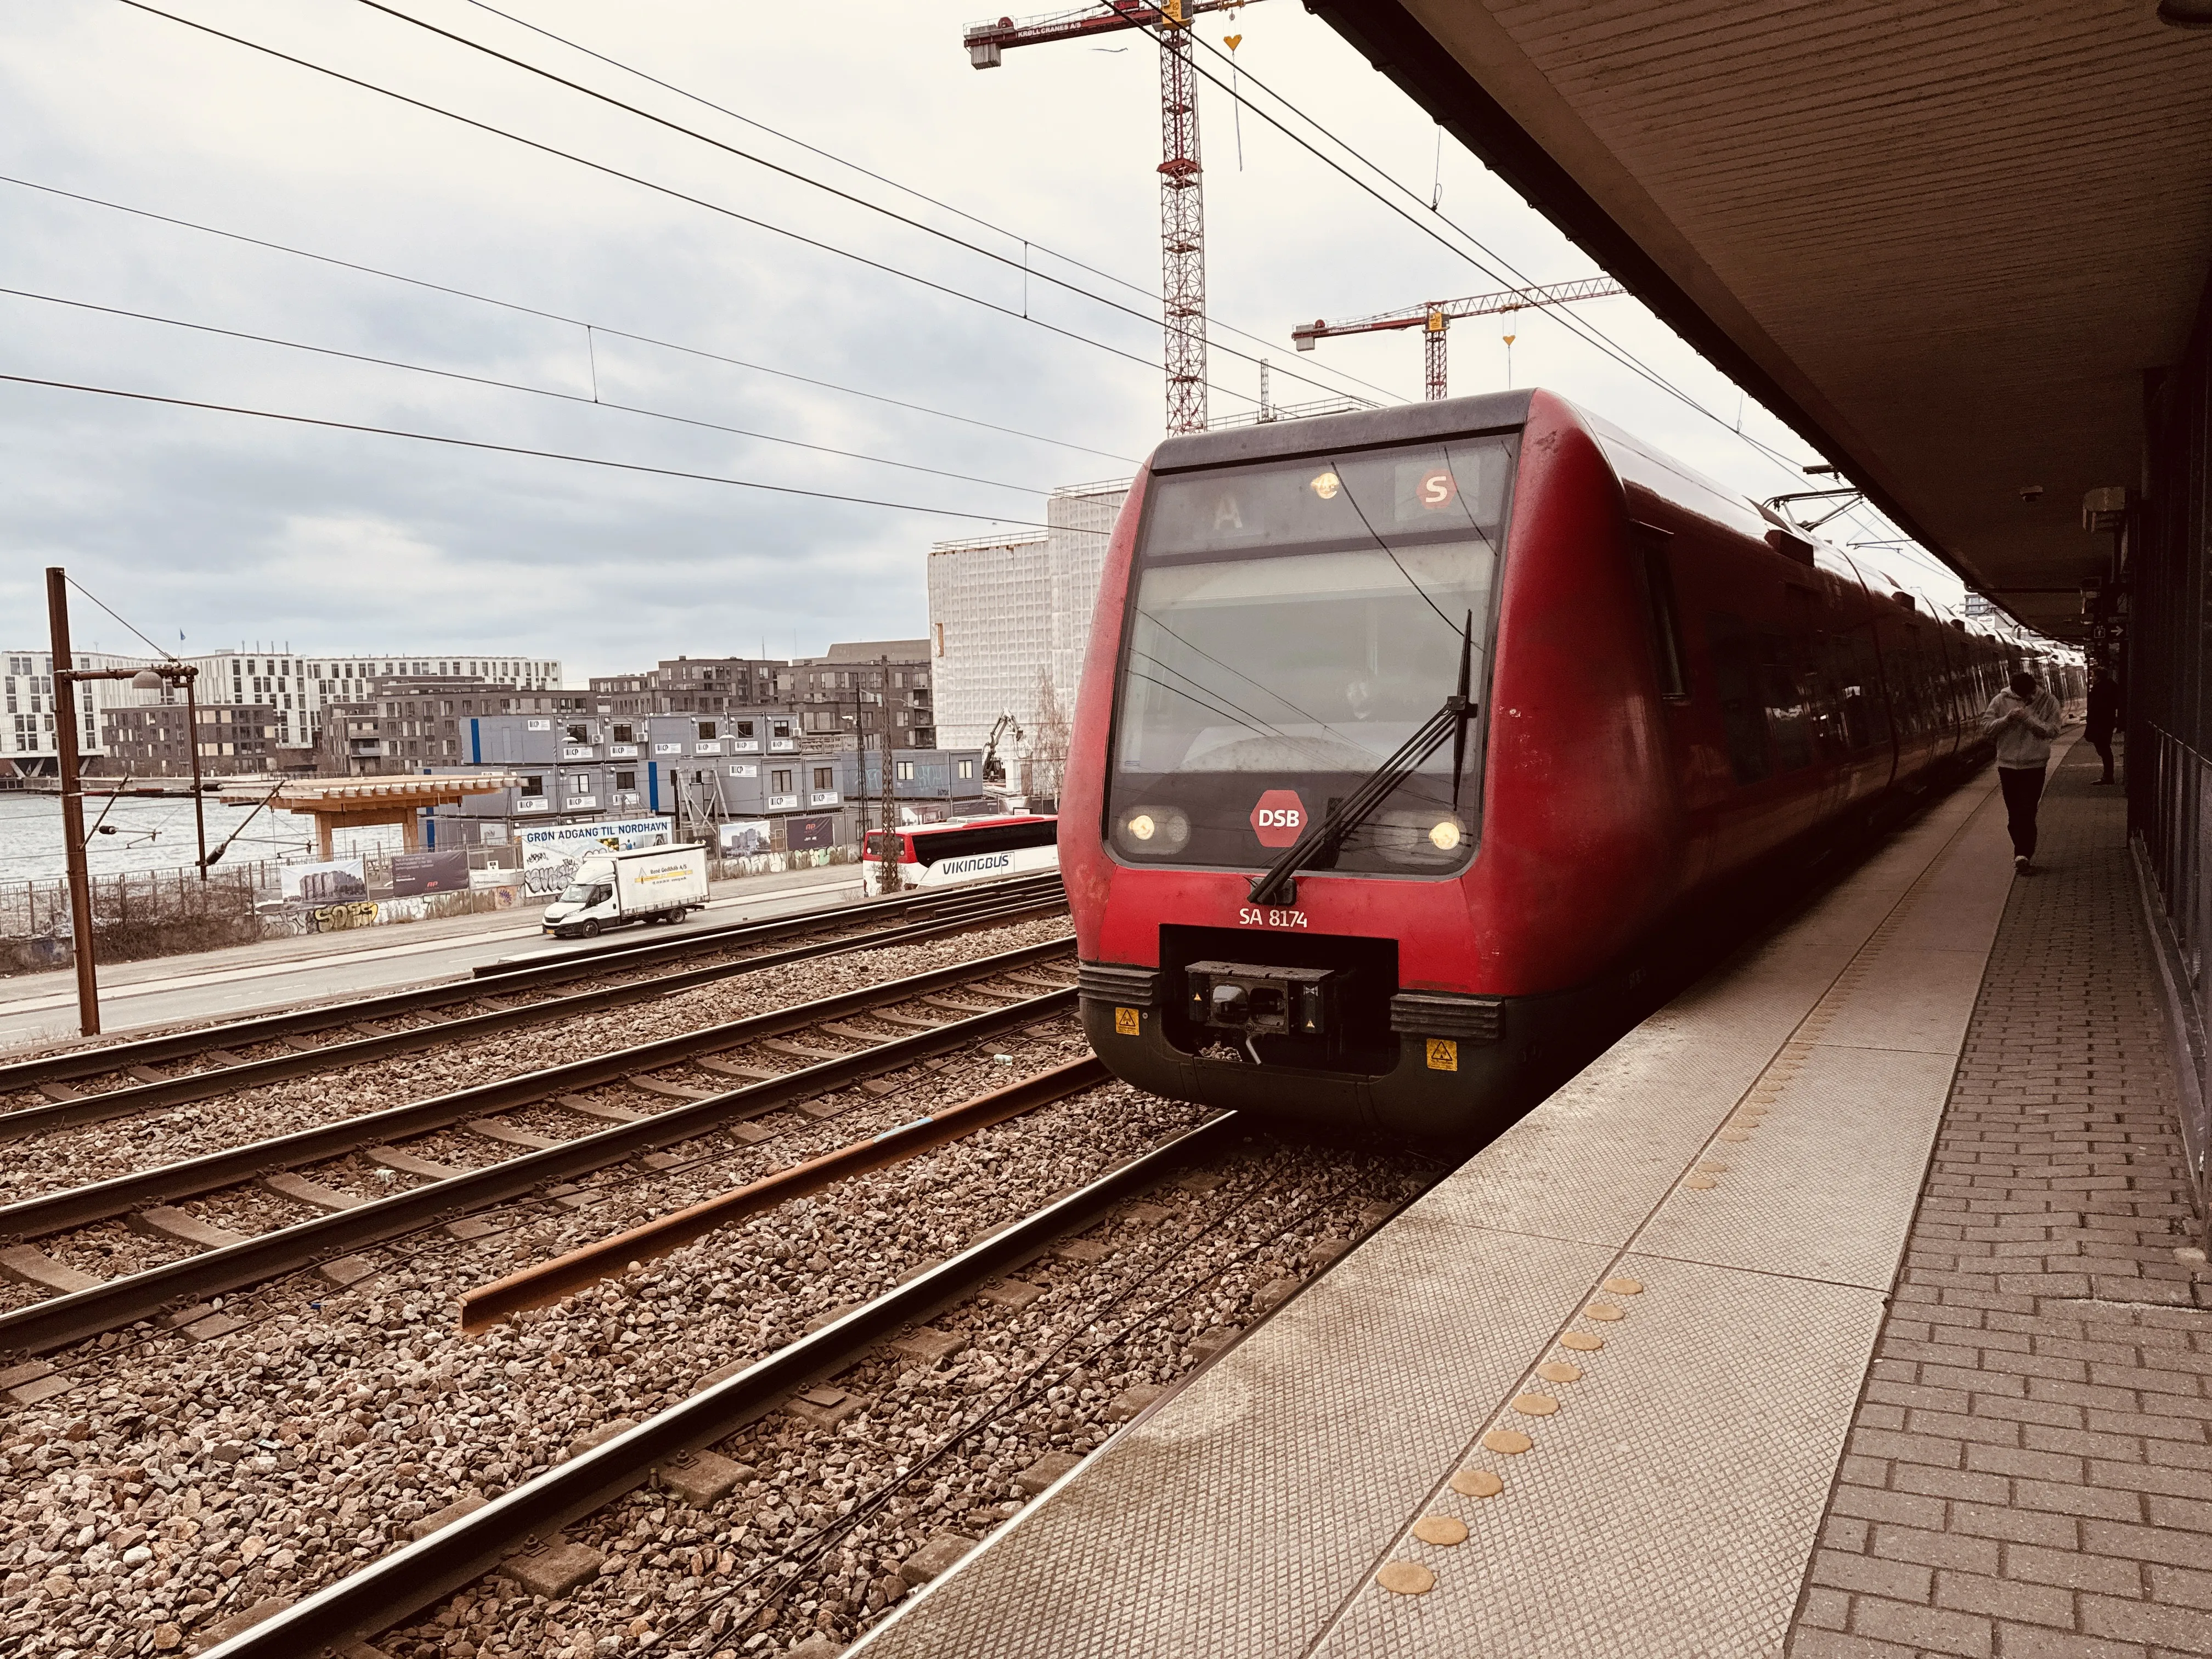
[[[2081,498],[2141,487],[2146,374],[2212,268],[2212,29],[2157,0],[1310,4],[1971,588],[2079,635],[2110,553]]]

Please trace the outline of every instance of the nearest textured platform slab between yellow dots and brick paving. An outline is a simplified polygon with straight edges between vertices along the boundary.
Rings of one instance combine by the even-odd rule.
[[[1462,1467],[1493,1498],[1444,1484],[1425,1515],[1455,1546],[1400,1537],[1389,1555],[1427,1595],[1369,1588],[1321,1644],[1327,1659],[1763,1659],[1781,1648],[1805,1544],[1858,1402],[1878,1292],[1630,1256],[1626,1318],[1577,1318],[1604,1349],[1551,1347],[1573,1383],[1531,1376],[1551,1416],[1511,1405],[1520,1455],[1475,1440]],[[1473,1482],[1469,1482],[1473,1484]],[[1449,1535],[1449,1533],[1447,1533]],[[1763,1593],[1783,1584],[1790,1595]]]

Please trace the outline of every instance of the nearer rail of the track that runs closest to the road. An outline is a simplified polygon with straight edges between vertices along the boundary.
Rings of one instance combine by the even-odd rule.
[[[1062,898],[1018,900],[1013,905],[1002,905],[995,909],[962,911],[960,916],[947,920],[905,922],[898,927],[876,929],[874,933],[838,936],[830,940],[816,940],[812,945],[794,945],[785,951],[761,951],[757,956],[741,956],[730,962],[708,962],[703,967],[681,969],[677,973],[664,973],[655,980],[633,980],[626,984],[608,984],[597,991],[575,991],[571,995],[549,998],[546,1002],[526,1002],[515,1009],[489,1009],[484,1013],[462,1013],[451,1020],[440,1020],[438,1024],[431,1026],[385,1031],[369,1037],[354,1037],[349,1042],[325,1042],[314,1048],[299,1048],[290,1053],[268,1055],[263,1060],[239,1060],[232,1066],[210,1066],[208,1071],[192,1071],[181,1077],[166,1077],[161,1082],[131,1084],[126,1088],[106,1088],[97,1095],[73,1095],[71,1099],[51,1099],[44,1106],[20,1106],[13,1113],[0,1113],[0,1141],[22,1139],[24,1135],[40,1135],[51,1128],[102,1124],[113,1117],[131,1117],[133,1113],[150,1113],[164,1106],[184,1106],[186,1102],[228,1095],[234,1088],[283,1082],[285,1077],[307,1077],[312,1073],[332,1071],[336,1066],[349,1066],[365,1060],[383,1060],[385,1055],[414,1053],[420,1048],[436,1048],[445,1042],[482,1037],[493,1031],[509,1031],[513,1026],[538,1024],[542,1020],[560,1020],[566,1015],[593,1013],[597,1009],[622,1006],[626,1002],[639,1002],[644,998],[659,998],[670,991],[684,991],[692,984],[730,980],[743,973],[757,973],[759,969],[783,967],[787,962],[810,962],[810,960],[821,960],[825,956],[883,949],[889,945],[916,945],[920,940],[940,938],[945,933],[962,933],[980,925],[1044,916],[1057,911],[1064,902],[1066,900]],[[608,969],[595,969],[595,973],[604,971]],[[577,973],[571,978],[591,978],[591,975]],[[476,1000],[482,995],[487,993],[476,989],[469,991],[467,1000]]]

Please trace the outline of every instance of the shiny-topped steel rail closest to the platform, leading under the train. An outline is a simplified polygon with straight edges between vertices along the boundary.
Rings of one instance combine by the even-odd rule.
[[[1108,1170],[920,1279],[856,1307],[834,1325],[768,1354],[726,1383],[701,1389],[429,1537],[316,1590],[252,1630],[210,1648],[204,1659],[299,1659],[392,1628],[480,1579],[509,1555],[551,1540],[562,1526],[633,1491],[657,1464],[734,1433],[812,1378],[841,1371],[902,1325],[927,1318],[984,1279],[1037,1254],[1055,1237],[1075,1232],[1121,1199],[1157,1186],[1175,1166],[1210,1155],[1230,1137],[1237,1121],[1234,1113],[1223,1113]]]

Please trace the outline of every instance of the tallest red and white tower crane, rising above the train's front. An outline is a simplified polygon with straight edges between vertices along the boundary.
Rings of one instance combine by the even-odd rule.
[[[1168,431],[1206,431],[1206,192],[1199,168],[1199,77],[1190,22],[1248,0],[1102,0],[1048,18],[971,24],[962,44],[975,69],[998,69],[1009,46],[1082,40],[1121,29],[1159,31],[1159,265],[1168,358]]]

